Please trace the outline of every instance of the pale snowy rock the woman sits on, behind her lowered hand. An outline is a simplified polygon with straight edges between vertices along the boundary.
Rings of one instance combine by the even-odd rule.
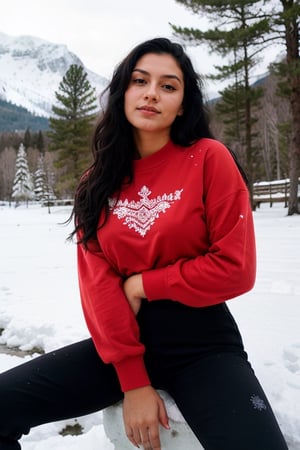
[[[165,391],[158,391],[164,399],[170,419],[170,430],[160,429],[162,450],[203,450],[194,433],[186,423],[174,400]],[[122,402],[103,411],[103,425],[106,436],[114,445],[114,450],[133,450],[134,446],[125,435]]]

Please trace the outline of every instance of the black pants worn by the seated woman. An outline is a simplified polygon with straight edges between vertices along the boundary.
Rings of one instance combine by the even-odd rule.
[[[225,305],[145,303],[138,320],[153,386],[174,398],[206,450],[287,450]],[[19,450],[31,427],[122,397],[91,339],[33,359],[0,375],[0,450]]]

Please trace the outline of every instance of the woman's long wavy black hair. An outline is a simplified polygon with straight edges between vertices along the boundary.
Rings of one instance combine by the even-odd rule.
[[[173,122],[170,139],[175,144],[189,146],[200,138],[213,137],[204,106],[202,80],[183,47],[166,38],[154,38],[137,45],[117,66],[102,94],[105,108],[92,139],[94,162],[81,178],[75,195],[71,215],[75,218],[75,229],[71,236],[78,233],[78,242],[85,246],[96,237],[97,228],[103,226],[108,217],[108,198],[117,195],[124,181],[130,183],[133,177],[136,148],[132,126],[124,113],[124,94],[137,61],[148,53],[171,55],[183,73],[183,114]]]

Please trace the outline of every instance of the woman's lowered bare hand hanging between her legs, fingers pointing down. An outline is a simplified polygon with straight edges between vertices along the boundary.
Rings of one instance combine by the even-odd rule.
[[[164,401],[152,386],[125,392],[123,418],[126,435],[133,445],[161,450],[159,425],[170,427]]]

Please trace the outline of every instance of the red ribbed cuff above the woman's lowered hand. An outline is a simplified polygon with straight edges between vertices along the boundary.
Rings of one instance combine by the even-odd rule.
[[[123,392],[151,384],[143,356],[126,358],[118,363],[114,363],[114,368]]]

